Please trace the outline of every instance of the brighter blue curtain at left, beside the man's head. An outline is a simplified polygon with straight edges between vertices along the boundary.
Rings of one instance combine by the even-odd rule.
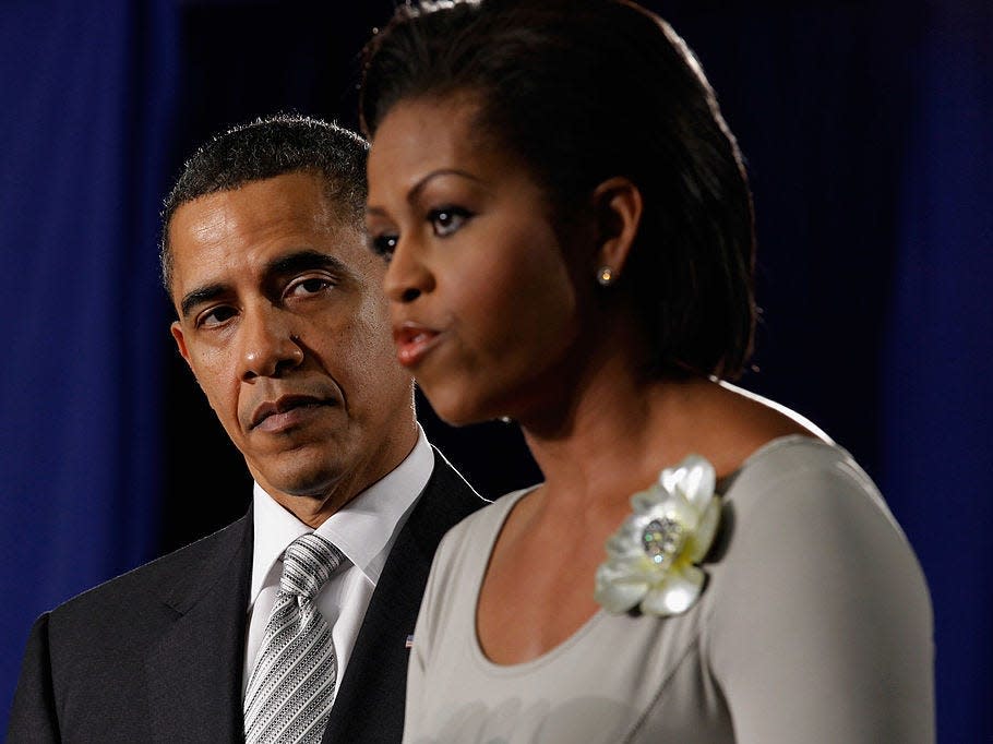
[[[158,548],[174,25],[151,2],[0,4],[4,730],[33,619]]]

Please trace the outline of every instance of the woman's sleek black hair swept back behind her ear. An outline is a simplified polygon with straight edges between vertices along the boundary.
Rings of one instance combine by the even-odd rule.
[[[665,21],[623,0],[398,7],[364,50],[366,134],[399,100],[454,94],[479,101],[481,133],[523,158],[553,208],[582,208],[614,176],[638,187],[620,284],[655,374],[742,372],[756,313],[751,192],[714,91]]]

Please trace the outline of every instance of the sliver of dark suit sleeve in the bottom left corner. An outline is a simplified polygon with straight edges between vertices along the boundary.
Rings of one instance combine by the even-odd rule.
[[[48,650],[48,613],[38,617],[27,639],[7,741],[10,744],[60,741]]]

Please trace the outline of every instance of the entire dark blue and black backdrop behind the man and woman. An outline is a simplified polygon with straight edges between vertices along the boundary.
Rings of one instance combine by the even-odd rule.
[[[358,51],[393,4],[0,3],[0,728],[37,614],[250,497],[168,333],[171,179],[229,123],[355,127]],[[940,741],[991,741],[993,5],[650,7],[749,160],[764,315],[743,384],[880,483],[931,586]],[[538,477],[512,425],[421,418],[486,495]]]

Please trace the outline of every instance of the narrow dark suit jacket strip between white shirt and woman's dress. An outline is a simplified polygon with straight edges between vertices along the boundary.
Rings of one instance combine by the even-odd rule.
[[[414,633],[434,551],[444,533],[486,502],[444,456],[400,530],[335,697],[324,744],[399,742],[407,688],[407,636]]]

